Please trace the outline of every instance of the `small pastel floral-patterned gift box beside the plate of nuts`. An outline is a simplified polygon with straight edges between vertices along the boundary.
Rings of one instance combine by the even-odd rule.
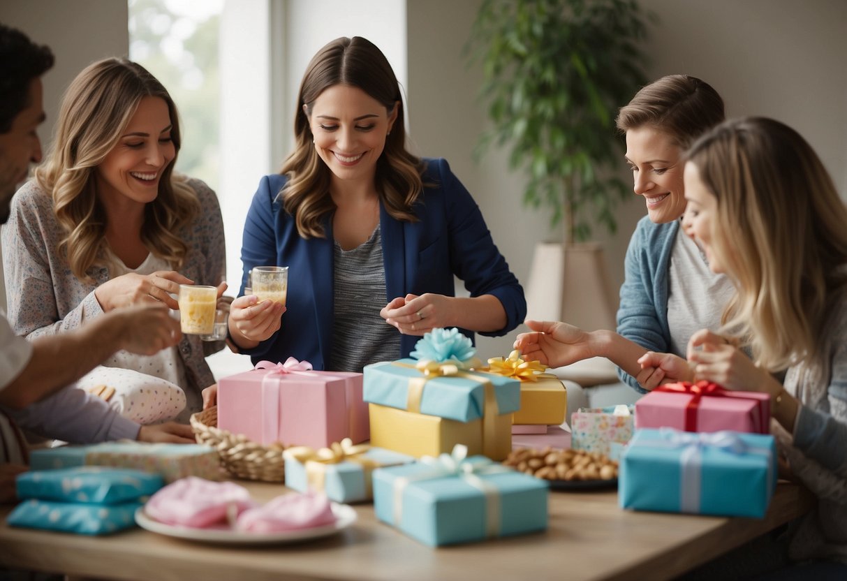
[[[633,437],[634,406],[580,407],[571,416],[571,447],[611,456]]]

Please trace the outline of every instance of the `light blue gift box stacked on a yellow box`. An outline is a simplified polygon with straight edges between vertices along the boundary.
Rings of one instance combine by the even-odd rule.
[[[381,406],[408,410],[409,383],[424,373],[415,368],[417,359],[399,359],[365,366],[363,399]],[[459,375],[435,376],[427,380],[420,401],[420,413],[470,422],[482,418],[485,385],[479,379]],[[517,412],[521,407],[521,382],[496,373],[468,371],[468,376],[484,378],[493,386],[497,413]]]

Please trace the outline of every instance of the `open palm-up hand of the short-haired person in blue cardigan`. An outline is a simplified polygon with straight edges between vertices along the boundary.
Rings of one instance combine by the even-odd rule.
[[[538,360],[551,368],[570,365],[595,357],[592,336],[572,324],[554,321],[524,321],[532,333],[521,333],[514,348],[521,351],[523,359]]]

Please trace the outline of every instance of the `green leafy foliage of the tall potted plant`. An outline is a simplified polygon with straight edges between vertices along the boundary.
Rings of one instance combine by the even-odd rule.
[[[528,175],[523,201],[562,219],[565,241],[591,223],[617,229],[614,208],[629,189],[617,177],[623,143],[617,109],[644,86],[639,48],[647,14],[635,0],[485,0],[465,47],[481,63],[493,128],[477,154],[510,145],[512,169]]]

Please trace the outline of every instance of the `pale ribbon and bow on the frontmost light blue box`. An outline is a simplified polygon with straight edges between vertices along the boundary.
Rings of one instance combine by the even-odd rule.
[[[393,515],[395,525],[399,527],[402,523],[403,491],[409,484],[454,477],[464,480],[473,488],[482,492],[485,502],[485,538],[490,539],[499,535],[502,525],[500,490],[497,490],[495,485],[486,482],[480,476],[513,472],[513,470],[488,458],[480,462],[468,462],[467,456],[468,446],[457,444],[453,447],[451,454],[444,453],[437,457],[422,456],[420,462],[429,468],[428,471],[395,479],[392,490],[394,493]]]

